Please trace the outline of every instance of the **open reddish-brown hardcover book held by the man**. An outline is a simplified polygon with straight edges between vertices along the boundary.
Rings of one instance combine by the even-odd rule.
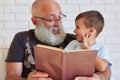
[[[73,80],[76,76],[92,76],[97,50],[64,51],[60,48],[34,47],[36,70],[46,72],[53,80]]]

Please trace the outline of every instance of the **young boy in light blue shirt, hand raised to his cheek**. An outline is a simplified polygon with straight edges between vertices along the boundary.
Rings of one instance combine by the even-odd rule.
[[[103,16],[98,11],[80,13],[75,19],[75,26],[74,33],[77,40],[71,41],[65,50],[98,50],[95,68],[97,71],[105,71],[109,63],[108,50],[105,46],[96,42],[96,37],[103,30]]]

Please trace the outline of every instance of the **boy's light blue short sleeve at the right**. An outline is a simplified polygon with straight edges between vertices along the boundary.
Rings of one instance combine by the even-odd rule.
[[[112,66],[112,63],[111,63],[111,61],[110,61],[110,59],[109,59],[108,48],[107,48],[106,46],[103,46],[103,47],[99,50],[98,56],[101,57],[101,58],[103,58],[103,59],[108,60],[108,65],[109,65],[109,66]]]

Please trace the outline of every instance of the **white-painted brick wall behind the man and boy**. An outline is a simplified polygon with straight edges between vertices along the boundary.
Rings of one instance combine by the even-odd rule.
[[[0,0],[0,80],[5,77],[5,57],[15,33],[34,28],[31,3],[34,0]],[[73,33],[74,19],[79,12],[95,9],[105,18],[105,28],[98,41],[108,46],[113,63],[111,80],[120,80],[120,0],[56,0],[67,15],[63,24]]]

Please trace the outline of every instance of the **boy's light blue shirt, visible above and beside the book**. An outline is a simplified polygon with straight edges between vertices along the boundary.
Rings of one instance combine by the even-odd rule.
[[[93,50],[98,50],[98,56],[101,57],[102,59],[108,60],[108,65],[112,66],[109,60],[109,52],[106,46],[101,45],[99,43],[96,43],[92,46],[90,46],[91,49]],[[78,42],[77,40],[71,41],[65,48],[65,51],[70,51],[70,50],[81,50],[82,49],[82,43]]]

